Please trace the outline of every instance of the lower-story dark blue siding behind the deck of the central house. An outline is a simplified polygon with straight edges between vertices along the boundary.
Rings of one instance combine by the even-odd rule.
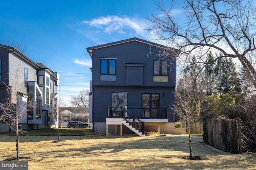
[[[94,86],[93,92],[93,112],[94,122],[106,122],[107,106],[112,106],[112,92],[128,92],[127,107],[141,108],[142,93],[159,93],[160,94],[160,108],[166,108],[168,122],[175,121],[175,115],[169,106],[175,102],[173,87],[141,87],[141,86]]]

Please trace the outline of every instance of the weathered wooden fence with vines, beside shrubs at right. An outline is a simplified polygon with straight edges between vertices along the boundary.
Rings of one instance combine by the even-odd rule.
[[[204,123],[204,143],[224,152],[242,151],[240,119],[211,119]]]

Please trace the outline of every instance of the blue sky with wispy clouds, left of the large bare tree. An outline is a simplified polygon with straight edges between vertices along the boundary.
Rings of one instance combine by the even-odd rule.
[[[89,89],[87,47],[138,37],[151,41],[145,16],[158,14],[156,0],[12,0],[0,6],[0,43],[26,45],[24,55],[60,73],[59,95]],[[169,0],[164,0],[168,6]]]

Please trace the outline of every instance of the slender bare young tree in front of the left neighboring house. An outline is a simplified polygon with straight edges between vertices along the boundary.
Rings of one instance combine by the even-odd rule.
[[[27,111],[32,106],[26,101],[21,100],[22,94],[19,93],[18,70],[14,86],[6,86],[7,99],[0,103],[0,122],[6,123],[10,129],[16,132],[16,159],[19,159],[19,132],[25,132],[22,129],[22,122],[27,116]]]

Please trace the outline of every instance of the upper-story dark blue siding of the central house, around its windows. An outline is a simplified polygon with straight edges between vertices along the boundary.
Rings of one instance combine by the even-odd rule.
[[[114,51],[114,52],[113,52]],[[143,86],[175,86],[176,60],[170,64],[168,82],[153,82],[153,61],[159,59],[160,49],[138,41],[95,49],[92,55],[93,86],[126,86],[126,63],[140,63],[143,66]],[[116,58],[116,81],[100,81],[100,58]]]

